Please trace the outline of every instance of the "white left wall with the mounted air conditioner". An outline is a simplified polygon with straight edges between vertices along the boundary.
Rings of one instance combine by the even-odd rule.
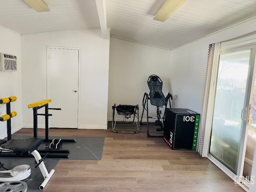
[[[20,35],[0,27],[0,53],[17,56],[17,71],[0,71],[0,98],[16,96],[16,102],[11,103],[11,111],[17,116],[11,119],[12,132],[22,128],[22,84],[21,84],[21,48]],[[6,114],[6,105],[0,104],[0,116]],[[0,122],[0,138],[7,136],[6,122]]]

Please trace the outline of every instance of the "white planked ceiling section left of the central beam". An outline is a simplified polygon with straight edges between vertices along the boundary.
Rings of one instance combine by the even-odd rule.
[[[19,34],[100,28],[95,0],[44,0],[50,12],[36,12],[23,0],[0,1],[0,25]]]

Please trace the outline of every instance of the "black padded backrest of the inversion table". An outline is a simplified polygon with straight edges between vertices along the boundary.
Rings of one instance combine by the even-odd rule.
[[[155,106],[163,106],[166,103],[162,92],[163,82],[157,75],[148,78],[148,88],[150,90],[150,103]]]

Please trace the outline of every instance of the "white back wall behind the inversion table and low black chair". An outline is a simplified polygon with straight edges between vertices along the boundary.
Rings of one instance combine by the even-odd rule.
[[[148,77],[155,74],[163,81],[163,93],[168,94],[170,50],[110,38],[108,120],[112,120],[114,103],[139,104],[142,114],[144,93],[149,93]],[[151,116],[156,116],[156,107],[149,102]],[[146,119],[146,115],[144,115]]]

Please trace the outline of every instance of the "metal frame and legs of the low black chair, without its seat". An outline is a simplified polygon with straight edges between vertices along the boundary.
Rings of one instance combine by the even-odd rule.
[[[134,106],[134,112],[118,112],[116,110],[116,104],[114,104],[114,106],[112,106],[112,110],[113,110],[113,114],[112,114],[112,131],[113,132],[115,132],[115,133],[138,133],[138,132],[140,132],[139,105],[138,104],[136,106]],[[114,120],[115,111],[117,112],[116,120]],[[123,122],[117,122],[117,116],[118,115],[124,116],[124,121]],[[130,118],[132,115],[133,115],[133,120],[130,121],[130,122],[126,122],[126,119]],[[134,120],[135,120],[135,117],[137,118],[137,121],[136,121],[137,130],[136,131],[127,131],[126,123],[133,123]],[[124,123],[125,124],[125,131],[116,131],[115,130],[116,123]]]

